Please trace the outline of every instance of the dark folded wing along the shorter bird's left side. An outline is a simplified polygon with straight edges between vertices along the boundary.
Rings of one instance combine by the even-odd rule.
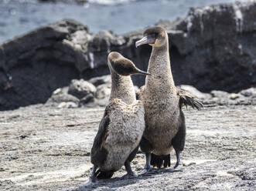
[[[108,150],[104,149],[104,142],[108,137],[109,122],[108,111],[105,109],[104,116],[102,117],[99,129],[97,130],[97,135],[94,138],[94,145],[90,151],[90,161],[97,166],[103,164],[108,156]]]

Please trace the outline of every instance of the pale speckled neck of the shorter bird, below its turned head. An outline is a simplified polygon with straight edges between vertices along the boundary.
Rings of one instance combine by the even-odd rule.
[[[130,76],[118,75],[111,67],[111,99],[121,99],[126,104],[136,101],[135,88]]]

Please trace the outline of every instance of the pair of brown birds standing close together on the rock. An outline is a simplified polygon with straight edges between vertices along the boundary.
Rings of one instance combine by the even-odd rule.
[[[145,152],[146,164],[141,174],[148,173],[152,166],[170,166],[171,149],[176,151],[176,165],[184,149],[186,126],[183,105],[200,109],[203,105],[188,92],[176,89],[172,79],[169,60],[169,39],[164,28],[148,28],[139,45],[152,45],[148,72],[137,69],[133,62],[118,52],[108,55],[111,71],[110,102],[94,138],[91,163],[94,164],[89,182],[108,179],[125,165],[127,174],[138,146]],[[136,100],[130,75],[147,75]]]

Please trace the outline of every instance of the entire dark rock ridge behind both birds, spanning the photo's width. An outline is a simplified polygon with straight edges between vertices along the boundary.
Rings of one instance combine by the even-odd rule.
[[[185,19],[159,22],[169,32],[172,72],[176,82],[203,92],[238,92],[256,85],[256,3],[192,9]],[[46,102],[71,79],[109,73],[107,55],[118,51],[147,69],[151,48],[135,49],[142,32],[92,35],[77,22],[38,28],[0,45],[0,110]],[[144,77],[135,76],[135,85]]]

